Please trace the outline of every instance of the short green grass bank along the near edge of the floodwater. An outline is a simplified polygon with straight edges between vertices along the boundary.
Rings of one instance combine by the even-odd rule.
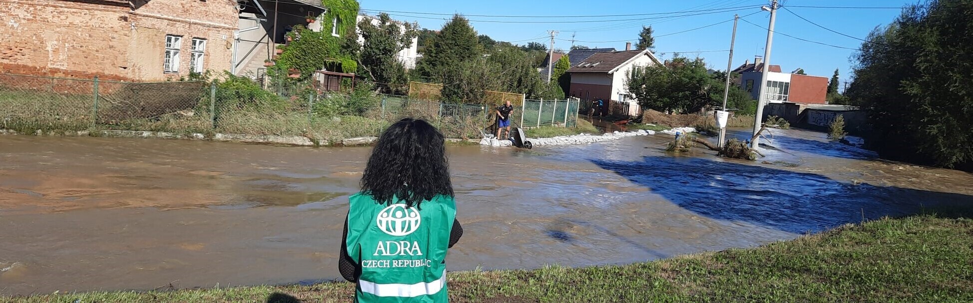
[[[462,245],[460,243],[459,245]],[[623,266],[450,273],[451,302],[970,302],[973,219],[846,225],[747,250]],[[348,302],[353,285],[90,292],[33,302]],[[300,301],[291,301],[293,296]]]

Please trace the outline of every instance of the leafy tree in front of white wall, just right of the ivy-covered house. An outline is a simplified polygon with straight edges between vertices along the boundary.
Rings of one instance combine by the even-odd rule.
[[[396,54],[412,44],[418,35],[415,27],[415,24],[396,22],[385,13],[378,15],[378,24],[369,17],[358,23],[364,40],[358,67],[385,92],[402,92],[409,84],[406,68]]]

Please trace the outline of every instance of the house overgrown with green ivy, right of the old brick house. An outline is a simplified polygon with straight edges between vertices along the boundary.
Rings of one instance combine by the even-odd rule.
[[[234,31],[231,72],[255,80],[307,80],[317,71],[350,75],[357,71],[356,48],[363,41],[355,0],[236,0],[239,26]],[[415,66],[417,39],[398,53]]]

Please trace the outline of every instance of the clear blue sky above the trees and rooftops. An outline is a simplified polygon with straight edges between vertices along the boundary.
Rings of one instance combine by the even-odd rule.
[[[645,15],[629,17],[468,17],[473,20],[474,28],[480,34],[486,34],[499,41],[517,41],[526,44],[530,41],[548,44],[547,30],[559,30],[555,49],[568,49],[569,40],[574,35],[575,44],[588,47],[625,49],[625,42],[609,42],[631,40],[637,42],[637,34],[642,25],[652,25],[656,36],[680,32],[688,29],[713,24],[722,20],[733,19],[734,14],[746,17],[753,23],[766,27],[770,21],[770,13],[762,12],[760,5],[769,5],[770,0],[683,0],[683,1],[456,1],[456,0],[361,0],[363,10],[397,11],[415,13],[439,13],[486,16],[597,16],[597,15],[633,15],[658,14],[679,11],[703,11],[680,13],[680,15],[694,15],[673,17],[673,15]],[[916,1],[903,0],[784,0],[784,6],[827,6],[827,7],[901,7]],[[733,8],[748,7],[737,12],[724,12]],[[726,10],[722,10],[726,8]],[[712,11],[717,10],[719,11]],[[801,17],[818,23],[824,27],[847,34],[848,36],[864,39],[868,33],[878,25],[888,24],[900,13],[896,9],[817,9],[790,7]],[[759,13],[758,13],[759,12]],[[430,29],[440,29],[449,16],[418,15],[408,13],[389,13],[400,20],[416,21],[420,26]],[[649,19],[650,17],[653,17]],[[502,21],[578,21],[598,20],[595,22],[574,23],[498,23],[477,20]],[[602,21],[603,20],[603,21]],[[848,38],[811,23],[787,12],[778,10],[775,31],[803,39],[831,44],[840,47],[857,49],[861,41]],[[730,35],[733,31],[733,21],[705,27],[681,34],[656,38],[657,55],[664,54],[669,58],[673,51],[683,55],[703,57],[710,68],[724,70],[727,64],[728,51],[694,52],[704,50],[729,50]],[[538,38],[538,39],[535,39]],[[535,39],[535,40],[530,40]],[[734,68],[754,55],[764,53],[767,30],[740,21],[737,31],[737,43],[734,54]],[[524,41],[527,40],[527,41]],[[568,41],[564,41],[568,40]],[[584,41],[584,42],[580,42]],[[784,72],[797,68],[804,68],[809,75],[831,77],[835,68],[841,70],[844,82],[849,76],[851,62],[849,56],[854,50],[844,50],[828,46],[799,41],[780,34],[774,36],[774,46],[771,55],[772,64],[781,65]]]

